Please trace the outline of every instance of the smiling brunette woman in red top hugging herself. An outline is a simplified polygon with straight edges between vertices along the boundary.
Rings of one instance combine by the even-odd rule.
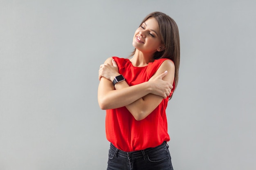
[[[99,69],[98,102],[106,110],[107,170],[173,170],[166,107],[178,82],[175,21],[150,13],[135,31],[132,58],[110,57]]]

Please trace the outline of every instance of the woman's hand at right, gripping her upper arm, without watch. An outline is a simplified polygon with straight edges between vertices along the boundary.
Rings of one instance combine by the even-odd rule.
[[[167,75],[167,71],[158,75],[153,79],[149,79],[148,82],[151,83],[152,91],[151,93],[154,95],[159,95],[164,97],[168,97],[171,93],[171,89],[173,88],[172,84],[163,80],[164,76]]]

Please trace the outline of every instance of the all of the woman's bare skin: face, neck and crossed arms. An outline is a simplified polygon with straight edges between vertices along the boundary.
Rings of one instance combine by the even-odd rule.
[[[130,59],[133,66],[146,66],[154,61],[153,54],[164,49],[155,18],[149,18],[135,31],[132,45],[136,48]],[[99,69],[99,106],[103,110],[126,106],[136,120],[145,119],[170,95],[174,72],[174,63],[165,60],[148,82],[129,86],[123,81],[114,86],[112,80],[120,74],[116,62],[110,57]]]

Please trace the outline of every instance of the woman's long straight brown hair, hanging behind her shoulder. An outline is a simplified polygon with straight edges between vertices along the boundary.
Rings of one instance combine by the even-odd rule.
[[[155,60],[160,58],[168,58],[174,62],[174,83],[175,87],[177,87],[180,67],[180,35],[178,26],[171,17],[162,12],[153,12],[148,14],[139,26],[141,26],[146,20],[148,20],[148,18],[151,17],[154,17],[158,22],[160,34],[162,37],[162,43],[164,44],[165,47],[163,51],[155,52],[153,58]],[[130,56],[134,55],[135,51],[136,49],[134,49]]]

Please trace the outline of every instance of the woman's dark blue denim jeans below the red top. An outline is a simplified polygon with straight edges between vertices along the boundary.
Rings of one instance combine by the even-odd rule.
[[[110,144],[107,170],[173,170],[169,146],[124,152]]]

